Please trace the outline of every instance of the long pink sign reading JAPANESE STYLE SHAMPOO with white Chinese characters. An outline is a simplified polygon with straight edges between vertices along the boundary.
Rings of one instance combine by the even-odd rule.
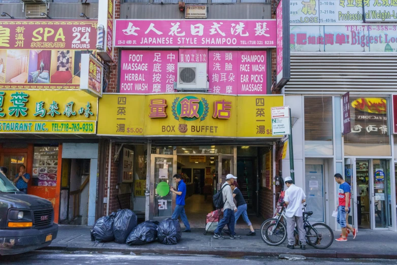
[[[114,32],[115,47],[276,47],[274,19],[117,19]]]

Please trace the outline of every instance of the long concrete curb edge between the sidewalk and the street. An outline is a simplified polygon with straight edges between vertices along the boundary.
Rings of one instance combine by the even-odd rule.
[[[397,254],[375,254],[375,253],[339,253],[332,252],[303,252],[303,251],[263,251],[262,249],[241,249],[230,250],[228,248],[146,248],[146,247],[78,247],[78,246],[47,246],[44,250],[62,250],[62,251],[89,251],[89,252],[121,252],[135,254],[155,253],[155,254],[184,254],[184,255],[217,255],[227,257],[242,257],[242,256],[261,256],[261,257],[278,257],[280,254],[297,254],[312,258],[380,258],[380,259],[397,259]]]

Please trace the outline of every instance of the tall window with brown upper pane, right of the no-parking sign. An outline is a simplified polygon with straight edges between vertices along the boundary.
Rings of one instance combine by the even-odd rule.
[[[333,155],[332,97],[305,96],[305,154]]]

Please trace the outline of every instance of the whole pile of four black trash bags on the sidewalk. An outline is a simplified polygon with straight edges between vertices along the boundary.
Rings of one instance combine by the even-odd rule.
[[[175,245],[182,238],[177,219],[145,221],[138,225],[137,219],[137,215],[128,209],[117,210],[109,216],[101,217],[92,227],[91,241],[144,245],[157,239],[161,244]]]

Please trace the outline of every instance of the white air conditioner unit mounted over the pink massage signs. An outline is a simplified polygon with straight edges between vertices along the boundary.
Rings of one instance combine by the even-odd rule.
[[[207,92],[207,63],[205,62],[179,62],[178,63],[178,91],[203,91]]]

